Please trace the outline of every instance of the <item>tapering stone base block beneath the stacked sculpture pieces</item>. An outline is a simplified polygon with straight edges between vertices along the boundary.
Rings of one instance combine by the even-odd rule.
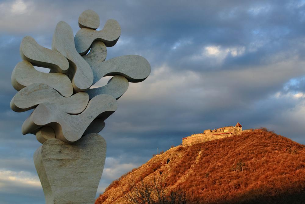
[[[106,158],[106,141],[91,133],[73,144],[49,139],[34,153],[46,204],[94,203]]]

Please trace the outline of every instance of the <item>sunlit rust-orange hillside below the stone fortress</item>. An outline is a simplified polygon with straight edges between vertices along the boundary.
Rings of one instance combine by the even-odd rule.
[[[142,197],[155,203],[305,203],[305,146],[265,131],[173,147],[114,181],[95,204],[141,203]]]

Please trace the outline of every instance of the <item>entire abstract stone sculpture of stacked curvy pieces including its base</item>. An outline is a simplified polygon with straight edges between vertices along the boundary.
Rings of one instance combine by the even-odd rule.
[[[30,36],[20,45],[23,61],[11,78],[19,92],[10,107],[16,112],[34,109],[22,133],[34,134],[42,143],[34,163],[46,203],[94,203],[106,157],[106,141],[96,133],[117,110],[128,83],[150,74],[148,61],[138,55],[106,60],[106,47],[117,43],[121,28],[116,20],[107,20],[96,31],[99,23],[98,14],[86,10],[79,16],[81,29],[75,37],[66,22],[57,24],[52,50]],[[104,76],[113,77],[107,85],[91,88]]]

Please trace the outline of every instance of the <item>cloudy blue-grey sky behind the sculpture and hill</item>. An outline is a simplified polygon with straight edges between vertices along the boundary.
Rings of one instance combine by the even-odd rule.
[[[51,48],[56,24],[78,31],[93,9],[122,28],[107,59],[138,54],[152,66],[130,83],[100,135],[107,141],[98,193],[152,154],[204,129],[266,127],[305,143],[305,1],[0,1],[0,203],[44,203],[34,162],[41,145],[21,134],[11,72],[26,35]],[[102,79],[99,85],[106,84]]]

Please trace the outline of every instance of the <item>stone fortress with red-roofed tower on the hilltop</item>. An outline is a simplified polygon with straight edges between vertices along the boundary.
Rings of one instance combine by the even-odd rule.
[[[242,125],[237,123],[235,126],[225,126],[213,130],[204,130],[203,133],[192,134],[191,136],[182,138],[182,146],[190,146],[196,143],[203,143],[214,139],[239,135],[242,132],[251,130],[242,130]]]

